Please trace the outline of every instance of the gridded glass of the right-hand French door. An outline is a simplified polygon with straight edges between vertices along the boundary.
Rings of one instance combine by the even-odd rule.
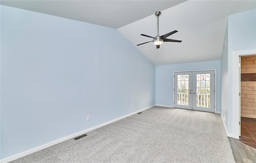
[[[196,106],[210,108],[210,74],[196,74]]]

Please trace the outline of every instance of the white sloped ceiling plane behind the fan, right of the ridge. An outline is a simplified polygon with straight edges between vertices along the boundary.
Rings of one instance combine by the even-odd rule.
[[[160,49],[152,42],[137,46],[155,65],[219,60],[222,54],[227,16],[256,8],[256,1],[186,1],[162,11],[159,35],[177,30]],[[157,35],[153,14],[118,29],[134,45],[151,41],[140,34]]]

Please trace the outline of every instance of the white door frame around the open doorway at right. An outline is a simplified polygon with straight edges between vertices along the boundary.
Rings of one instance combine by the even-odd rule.
[[[232,88],[229,90],[232,103],[228,106],[228,114],[232,114],[232,133],[230,137],[239,139],[239,57],[256,54],[256,49],[232,51]]]

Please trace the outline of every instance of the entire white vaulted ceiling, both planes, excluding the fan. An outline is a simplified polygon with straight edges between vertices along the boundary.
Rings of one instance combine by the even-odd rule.
[[[152,42],[136,46],[155,65],[218,60],[221,57],[227,16],[256,8],[250,0],[1,0],[2,5],[117,28],[134,46],[159,34],[177,33],[160,49]]]

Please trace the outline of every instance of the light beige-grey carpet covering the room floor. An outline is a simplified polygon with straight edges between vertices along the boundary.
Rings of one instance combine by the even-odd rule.
[[[220,114],[155,106],[86,134],[12,163],[235,163]]]

